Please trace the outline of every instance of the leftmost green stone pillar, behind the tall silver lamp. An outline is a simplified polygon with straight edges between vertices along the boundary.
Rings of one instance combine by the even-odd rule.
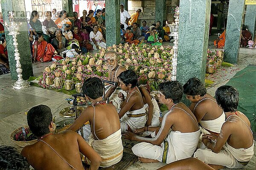
[[[20,26],[20,34],[17,35],[18,42],[18,50],[20,53],[20,64],[22,68],[22,76],[23,79],[29,79],[30,76],[33,76],[33,68],[32,68],[32,59],[31,59],[31,51],[30,51],[30,42],[28,35],[28,26],[26,22],[26,11],[25,11],[25,3],[24,0],[1,0],[2,13],[3,13],[3,21],[9,24],[9,16],[8,11],[13,11],[15,14],[16,23],[22,22]],[[9,58],[9,65],[11,70],[12,79],[17,80],[17,72],[16,72],[16,60],[14,56],[14,46],[12,36],[8,35],[9,31],[4,27],[5,35],[6,35],[6,44],[7,44],[7,52]]]

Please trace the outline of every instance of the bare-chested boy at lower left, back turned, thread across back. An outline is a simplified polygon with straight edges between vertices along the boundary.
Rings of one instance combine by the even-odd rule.
[[[31,108],[27,122],[38,141],[24,147],[21,155],[35,170],[84,170],[80,152],[91,161],[90,170],[98,169],[101,157],[79,134],[71,130],[52,133],[52,112],[48,106]]]

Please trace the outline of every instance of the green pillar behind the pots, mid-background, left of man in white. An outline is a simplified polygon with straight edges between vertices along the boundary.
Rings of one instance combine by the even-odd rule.
[[[106,41],[107,46],[121,41],[119,0],[106,0]]]

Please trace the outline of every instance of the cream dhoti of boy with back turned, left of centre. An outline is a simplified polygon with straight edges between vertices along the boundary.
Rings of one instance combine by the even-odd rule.
[[[88,144],[101,156],[102,162],[100,167],[109,167],[122,159],[123,146],[121,129],[102,140],[94,140],[91,134]],[[88,159],[87,161],[89,162]]]

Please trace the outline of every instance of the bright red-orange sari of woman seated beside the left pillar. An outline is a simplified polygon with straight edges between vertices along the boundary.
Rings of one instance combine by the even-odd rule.
[[[35,53],[35,46],[37,45],[37,42],[33,45],[33,56]],[[40,61],[40,59],[43,59],[43,62],[49,62],[52,61],[52,57],[54,55],[55,48],[47,43],[46,41],[42,41],[39,45],[37,45],[37,56],[36,61]]]

